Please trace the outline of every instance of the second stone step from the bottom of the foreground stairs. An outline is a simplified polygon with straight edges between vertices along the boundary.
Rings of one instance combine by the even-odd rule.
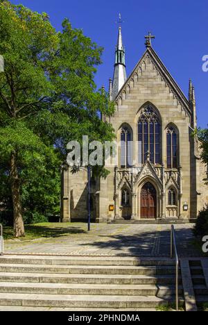
[[[182,286],[179,288],[182,294]],[[175,286],[160,285],[106,285],[64,283],[0,283],[1,293],[24,294],[80,294],[80,295],[128,295],[166,297],[175,294]]]

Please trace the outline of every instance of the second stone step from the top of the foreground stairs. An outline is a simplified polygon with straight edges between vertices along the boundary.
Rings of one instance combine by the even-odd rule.
[[[175,274],[175,266],[112,266],[112,265],[30,265],[3,264],[0,272],[58,273],[58,274]]]

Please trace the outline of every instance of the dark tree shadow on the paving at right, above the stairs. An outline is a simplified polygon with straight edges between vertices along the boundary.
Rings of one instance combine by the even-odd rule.
[[[177,253],[179,257],[202,256],[202,251],[196,247],[191,228],[175,230]],[[101,253],[108,251],[115,255],[132,256],[164,256],[169,257],[171,252],[171,233],[163,231],[135,231],[132,235],[99,235],[101,240],[94,240],[80,245],[101,249]],[[102,240],[103,238],[103,240]]]

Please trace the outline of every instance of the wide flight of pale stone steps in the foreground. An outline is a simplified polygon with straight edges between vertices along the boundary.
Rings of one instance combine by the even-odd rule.
[[[184,303],[181,277],[179,284]],[[174,302],[171,259],[0,257],[0,310],[155,310]]]

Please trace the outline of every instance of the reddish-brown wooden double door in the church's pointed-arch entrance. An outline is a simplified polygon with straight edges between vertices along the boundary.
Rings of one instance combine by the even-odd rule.
[[[141,219],[156,218],[157,193],[152,183],[147,182],[141,188]]]

